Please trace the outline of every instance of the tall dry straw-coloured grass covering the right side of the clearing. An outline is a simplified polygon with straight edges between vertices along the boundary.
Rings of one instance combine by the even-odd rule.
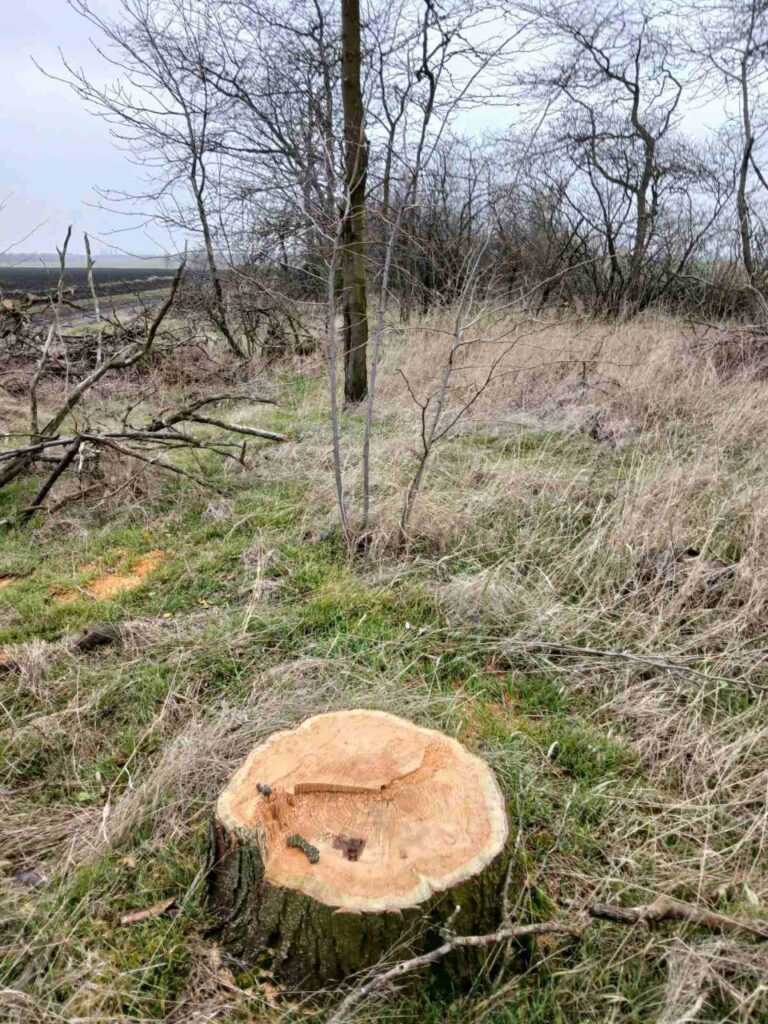
[[[490,632],[489,650],[560,678],[595,723],[629,738],[645,773],[622,798],[612,845],[636,865],[632,882],[765,914],[768,388],[749,365],[721,383],[665,319],[528,330],[459,425],[486,443],[459,436],[436,453],[415,545],[438,559],[452,625]],[[493,346],[466,349],[455,403],[482,381]],[[444,335],[427,330],[389,354],[385,408],[411,430],[399,374],[428,394],[441,349]],[[401,478],[393,453],[408,451],[406,434],[384,445]],[[540,641],[699,674],[546,653]],[[761,957],[718,943],[671,952],[659,1019],[757,1020]]]

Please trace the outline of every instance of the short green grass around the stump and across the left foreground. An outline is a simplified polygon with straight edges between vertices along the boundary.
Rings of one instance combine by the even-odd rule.
[[[285,387],[284,407],[270,424],[288,429],[318,385],[293,378]],[[318,404],[302,427],[323,423]],[[46,531],[44,541],[35,541],[40,535],[32,529],[6,532],[0,573],[17,579],[0,590],[1,642],[50,644],[42,668],[3,680],[2,711],[9,724],[0,732],[0,785],[12,796],[13,821],[30,829],[31,861],[36,821],[44,835],[48,820],[63,820],[69,813],[88,816],[91,830],[97,828],[104,807],[114,809],[152,778],[184,730],[216,722],[232,709],[258,717],[257,684],[262,696],[288,701],[287,684],[280,677],[270,682],[269,673],[312,658],[334,667],[342,699],[348,694],[352,705],[376,706],[383,699],[377,694],[401,693],[407,709],[420,708],[415,713],[424,721],[439,724],[488,759],[519,845],[520,920],[569,912],[596,892],[641,902],[653,891],[662,862],[695,859],[697,837],[685,829],[666,834],[659,824],[653,842],[638,839],[655,835],[653,819],[643,818],[637,804],[638,795],[655,783],[631,730],[601,709],[589,687],[571,685],[558,666],[501,653],[502,641],[517,625],[524,627],[526,609],[511,609],[504,627],[449,624],[437,586],[446,565],[461,574],[506,563],[524,564],[534,586],[564,552],[589,541],[606,493],[630,473],[632,453],[606,457],[583,437],[544,432],[467,436],[446,453],[447,465],[480,453],[511,468],[536,465],[570,476],[588,472],[592,492],[575,505],[567,494],[545,493],[537,499],[535,520],[530,505],[506,503],[472,523],[470,553],[465,548],[438,562],[429,544],[417,543],[413,560],[395,572],[350,558],[333,530],[309,537],[316,498],[300,479],[230,480],[231,496],[218,506],[219,500],[188,481],[168,480],[141,509],[111,522],[91,522],[60,537]],[[212,480],[221,479],[217,466],[207,472]],[[2,500],[23,501],[31,486],[25,481],[8,488]],[[743,528],[740,520],[724,522],[722,532],[713,532],[713,548],[736,557]],[[257,543],[265,552],[262,580],[269,586],[252,599],[256,570],[247,555]],[[124,571],[155,550],[165,558],[138,589],[108,601],[82,592],[94,574]],[[604,554],[596,552],[598,558],[604,560]],[[562,607],[578,610],[594,601],[591,564],[557,577]],[[621,564],[613,571],[610,586],[617,589]],[[55,596],[61,593],[76,598],[58,603]],[[632,644],[642,631],[624,612],[611,616],[593,608],[592,616],[590,630],[598,622],[606,645]],[[138,634],[146,639],[82,657],[58,643],[104,622],[148,624],[148,632]],[[567,639],[595,642],[594,632]],[[327,691],[308,679],[301,709],[312,709],[316,700],[315,710],[325,710]],[[731,697],[733,710],[749,708],[743,694],[724,694],[717,711]],[[285,714],[290,721],[299,712]],[[210,800],[191,801],[180,814],[175,791],[161,791],[155,799],[159,816],[121,834],[115,849],[80,863],[76,858],[40,889],[19,892],[7,884],[12,898],[3,984],[65,1019],[126,1022],[163,1021],[180,1012],[179,1000],[190,991],[205,988],[201,962],[210,943],[201,865]],[[163,827],[164,817],[172,827]],[[109,815],[104,822],[110,828]],[[24,851],[15,859],[24,861]],[[180,907],[176,916],[120,926],[121,914],[170,897]],[[503,998],[480,1019],[486,1024],[653,1020],[664,1001],[667,934],[648,943],[641,933],[596,925],[580,943],[531,947],[526,970],[509,980]],[[271,1009],[259,986],[254,972],[237,974],[242,996],[220,988],[223,1009],[216,1019],[310,1019],[299,1010]],[[477,1000],[487,995],[482,985],[451,1002],[406,993],[374,1013],[392,1024],[469,1021]]]

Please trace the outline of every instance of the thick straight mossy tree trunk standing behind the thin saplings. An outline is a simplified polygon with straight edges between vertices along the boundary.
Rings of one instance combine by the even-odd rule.
[[[359,0],[341,0],[341,96],[344,104],[344,397],[368,392],[366,289],[366,177],[368,142],[360,91]]]

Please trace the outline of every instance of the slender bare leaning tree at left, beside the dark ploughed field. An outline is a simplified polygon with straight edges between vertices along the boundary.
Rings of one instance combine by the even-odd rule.
[[[106,18],[89,0],[72,0],[72,6],[98,30],[94,45],[118,79],[98,85],[65,58],[66,81],[148,175],[142,195],[110,191],[105,198],[148,203],[155,219],[199,233],[212,289],[211,319],[232,351],[243,355],[227,317],[210,209],[211,164],[221,151],[223,112],[206,72],[211,33],[205,9],[180,0],[120,0],[119,18]]]

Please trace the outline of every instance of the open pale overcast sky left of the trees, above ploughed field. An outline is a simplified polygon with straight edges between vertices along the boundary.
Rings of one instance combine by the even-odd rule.
[[[116,0],[98,0],[99,11],[116,8]],[[32,62],[34,56],[56,72],[60,46],[72,63],[98,72],[103,66],[90,46],[88,30],[66,0],[3,0],[0,200],[5,207],[0,212],[0,252],[35,227],[15,248],[50,252],[70,223],[75,226],[73,252],[83,251],[83,230],[99,240],[93,243],[96,251],[115,246],[154,253],[168,242],[157,230],[124,231],[124,217],[88,207],[97,202],[94,186],[130,189],[138,182],[138,171],[115,146],[106,125]],[[116,228],[120,233],[111,233]]]

